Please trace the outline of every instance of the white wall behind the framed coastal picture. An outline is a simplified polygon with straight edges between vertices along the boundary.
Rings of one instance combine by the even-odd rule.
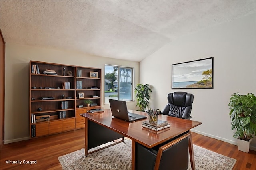
[[[236,144],[228,103],[235,92],[256,94],[255,32],[253,14],[179,38],[141,61],[140,83],[153,89],[150,107],[163,109],[170,92],[193,93],[192,120],[202,122],[193,131]],[[208,57],[214,57],[214,89],[171,89],[172,64]]]

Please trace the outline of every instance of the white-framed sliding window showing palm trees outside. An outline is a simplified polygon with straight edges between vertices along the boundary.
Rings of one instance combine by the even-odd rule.
[[[133,68],[105,65],[105,102],[108,99],[132,101]]]

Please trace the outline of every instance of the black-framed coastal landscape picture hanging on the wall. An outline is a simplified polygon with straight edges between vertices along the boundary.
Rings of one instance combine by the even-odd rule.
[[[213,89],[213,57],[172,64],[172,89]]]

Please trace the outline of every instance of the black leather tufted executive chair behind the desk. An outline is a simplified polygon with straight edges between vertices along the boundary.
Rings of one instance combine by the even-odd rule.
[[[162,110],[163,115],[190,119],[194,95],[187,92],[173,92],[167,95],[168,104]]]

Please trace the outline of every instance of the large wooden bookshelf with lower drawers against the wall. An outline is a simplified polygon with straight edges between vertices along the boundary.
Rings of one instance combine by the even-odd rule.
[[[101,73],[100,68],[30,61],[30,138],[84,128],[79,114],[101,108]],[[78,93],[83,93],[83,98]],[[92,100],[93,106],[86,107],[85,99]],[[50,115],[50,120],[35,122],[34,117],[46,115]]]

